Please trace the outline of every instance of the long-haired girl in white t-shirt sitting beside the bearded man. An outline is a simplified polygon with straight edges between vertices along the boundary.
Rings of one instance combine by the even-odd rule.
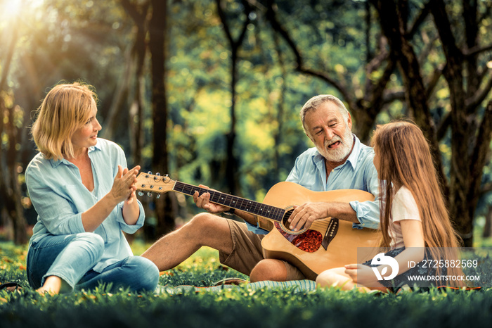
[[[385,202],[380,198],[381,246],[390,248],[384,255],[396,260],[398,275],[391,280],[381,279],[391,269],[374,264],[377,258],[382,258],[379,256],[363,264],[326,270],[318,275],[316,282],[321,286],[342,286],[342,289],[358,286],[363,290],[396,291],[405,284],[413,284],[408,279],[410,275],[420,275],[431,277],[427,282],[415,282],[420,286],[425,283],[459,286],[459,282],[442,279],[444,275],[462,275],[458,268],[439,267],[439,260],[457,259],[458,240],[422,131],[410,122],[380,125],[371,146],[375,151],[374,165],[382,180],[380,194],[386,195]],[[431,263],[432,259],[435,261]],[[415,265],[409,267],[408,263]],[[374,268],[381,280],[377,279]]]

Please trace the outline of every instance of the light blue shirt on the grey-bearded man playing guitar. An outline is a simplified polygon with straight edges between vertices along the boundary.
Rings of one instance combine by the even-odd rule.
[[[351,201],[350,206],[356,212],[360,223],[353,227],[378,229],[380,225],[379,179],[374,167],[374,151],[365,146],[354,135],[354,149],[347,161],[337,166],[326,179],[325,158],[316,148],[310,148],[295,161],[285,181],[295,182],[312,191],[330,191],[337,189],[359,189],[375,196],[374,201]],[[248,229],[257,234],[266,230],[248,224]]]

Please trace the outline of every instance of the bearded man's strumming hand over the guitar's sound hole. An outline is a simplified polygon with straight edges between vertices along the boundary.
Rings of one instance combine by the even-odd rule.
[[[314,220],[324,219],[330,215],[330,203],[304,203],[301,206],[294,205],[294,211],[290,215],[289,229],[299,231],[303,228],[309,228]]]

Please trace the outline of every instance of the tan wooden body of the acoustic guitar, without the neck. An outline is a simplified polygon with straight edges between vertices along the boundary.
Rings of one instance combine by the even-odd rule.
[[[349,203],[350,201],[373,201],[374,196],[366,191],[356,189],[342,189],[335,191],[311,191],[299,184],[292,182],[280,182],[273,186],[265,196],[264,203],[279,208],[289,208],[292,205],[302,205],[306,202],[335,201]],[[313,273],[319,275],[324,270],[333,267],[342,267],[351,263],[358,263],[357,248],[375,248],[379,246],[380,231],[375,229],[354,229],[351,222],[335,219],[331,217],[316,220],[304,234],[300,234],[297,239],[290,241],[285,232],[279,225],[272,222],[265,222],[266,219],[260,218],[259,226],[264,229],[271,229],[261,241],[265,258],[276,258],[292,263],[303,272],[310,276]],[[325,249],[318,245],[316,251],[313,249],[305,251],[299,247],[299,240],[313,239],[314,232],[318,239],[312,241],[313,244],[321,244],[320,238],[328,239],[326,236],[328,227],[337,225],[336,232],[330,236],[330,242]],[[320,236],[321,234],[321,236]],[[298,246],[296,246],[298,245]],[[368,250],[367,250],[368,251]],[[367,253],[365,259],[371,258],[375,253]],[[361,259],[359,259],[360,261]]]

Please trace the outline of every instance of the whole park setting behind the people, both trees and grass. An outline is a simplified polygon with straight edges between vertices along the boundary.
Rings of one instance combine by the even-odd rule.
[[[130,167],[261,201],[312,146],[302,105],[335,94],[365,144],[377,124],[415,121],[463,245],[491,246],[491,11],[490,0],[0,0],[0,280],[25,286],[0,291],[1,326],[490,327],[489,289],[41,297],[27,287],[36,213],[23,173],[41,99],[82,80],[99,97],[99,137]],[[179,194],[139,199],[137,255],[197,213]],[[480,268],[492,272],[488,256]],[[202,249],[160,282],[237,275]]]

